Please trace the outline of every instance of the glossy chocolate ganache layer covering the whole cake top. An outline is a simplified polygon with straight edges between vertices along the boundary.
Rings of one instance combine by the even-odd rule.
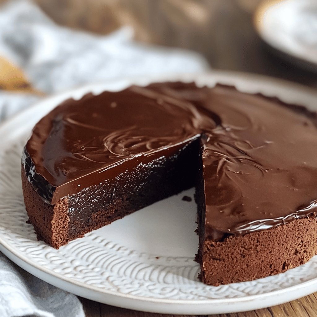
[[[34,127],[23,164],[55,204],[201,138],[205,236],[220,240],[315,217],[316,122],[304,107],[233,87],[132,86],[56,107]]]

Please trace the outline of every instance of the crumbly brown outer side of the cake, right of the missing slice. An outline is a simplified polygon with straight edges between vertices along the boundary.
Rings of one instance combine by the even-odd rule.
[[[224,241],[206,239],[197,261],[208,285],[251,281],[306,263],[317,254],[317,220],[304,218]]]

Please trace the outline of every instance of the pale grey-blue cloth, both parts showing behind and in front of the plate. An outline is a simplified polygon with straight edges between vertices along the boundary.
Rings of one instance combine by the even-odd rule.
[[[97,36],[57,26],[28,0],[11,1],[0,10],[0,56],[21,68],[31,85],[46,94],[127,75],[208,68],[195,53],[132,39],[129,27]],[[40,98],[0,90],[0,121]],[[37,279],[0,253],[0,316],[29,315],[80,317],[84,312],[76,296]]]

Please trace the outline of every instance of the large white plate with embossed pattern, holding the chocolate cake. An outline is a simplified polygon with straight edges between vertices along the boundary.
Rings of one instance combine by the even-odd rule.
[[[69,292],[114,306],[170,314],[219,314],[277,305],[317,291],[317,257],[286,273],[219,287],[197,280],[196,206],[186,191],[55,250],[37,241],[24,209],[22,148],[33,125],[62,100],[132,83],[183,80],[278,96],[317,110],[317,93],[273,78],[227,72],[126,78],[42,100],[0,126],[0,250],[31,274]]]

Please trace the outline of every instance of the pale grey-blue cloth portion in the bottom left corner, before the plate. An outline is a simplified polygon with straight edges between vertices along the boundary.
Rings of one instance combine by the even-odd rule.
[[[16,266],[0,252],[0,316],[84,317],[76,296]]]

